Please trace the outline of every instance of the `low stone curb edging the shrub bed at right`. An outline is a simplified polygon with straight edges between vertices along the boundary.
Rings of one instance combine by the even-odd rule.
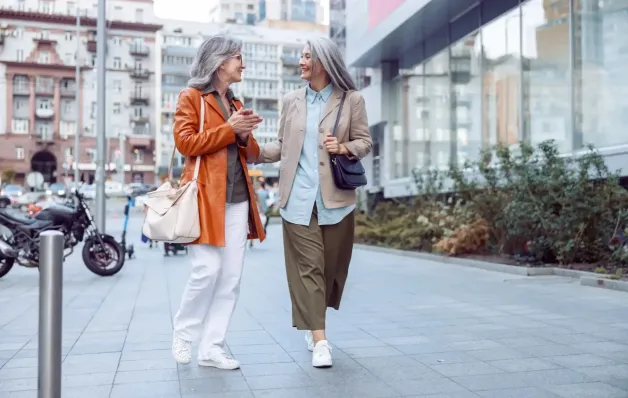
[[[471,267],[471,268],[482,269],[485,271],[501,272],[501,273],[511,274],[511,275],[520,275],[520,276],[556,275],[556,276],[562,276],[565,278],[580,279],[580,285],[582,286],[601,287],[601,288],[609,289],[609,290],[628,292],[628,282],[609,279],[606,276],[601,276],[599,274],[595,274],[592,272],[577,271],[577,270],[558,268],[558,267],[524,267],[524,266],[516,266],[516,265],[491,263],[487,261],[473,260],[473,259],[467,259],[467,258],[441,256],[441,255],[432,254],[432,253],[411,252],[407,250],[391,249],[388,247],[364,245],[361,243],[356,243],[353,246],[356,249],[365,250],[365,251],[395,254],[395,255],[403,256],[403,257],[412,257],[412,258],[418,258],[421,260],[436,261],[436,262],[445,263],[445,264],[459,265],[463,267]]]

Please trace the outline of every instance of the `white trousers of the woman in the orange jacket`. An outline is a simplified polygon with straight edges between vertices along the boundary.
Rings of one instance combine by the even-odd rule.
[[[226,246],[189,246],[192,272],[173,326],[183,340],[197,341],[200,337],[199,359],[224,352],[225,335],[240,293],[248,217],[248,201],[227,203]]]

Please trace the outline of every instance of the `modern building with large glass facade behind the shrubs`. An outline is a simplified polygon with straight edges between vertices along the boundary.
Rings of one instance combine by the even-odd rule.
[[[354,66],[380,70],[378,84],[363,90],[367,103],[378,101],[373,132],[384,131],[383,178],[372,189],[402,196],[414,168],[445,169],[522,140],[553,139],[563,153],[591,143],[611,167],[628,169],[628,1],[485,0],[455,14],[443,7],[443,23],[438,2],[397,0],[384,17],[374,1],[356,4],[354,21],[379,18],[361,18],[369,26],[356,31],[382,38],[349,55]],[[422,3],[415,14],[427,16],[411,21],[409,3]],[[436,21],[431,32],[397,43],[396,59],[382,49],[422,17]]]

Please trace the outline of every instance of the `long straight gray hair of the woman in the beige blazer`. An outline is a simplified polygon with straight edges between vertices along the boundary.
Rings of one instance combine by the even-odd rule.
[[[310,46],[310,59],[314,62],[319,61],[323,65],[323,69],[329,75],[329,80],[334,86],[342,91],[356,90],[355,83],[336,43],[327,37],[317,37],[309,39],[307,45]]]

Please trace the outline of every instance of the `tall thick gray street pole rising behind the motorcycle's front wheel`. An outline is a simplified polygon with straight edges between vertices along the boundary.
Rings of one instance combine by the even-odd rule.
[[[107,68],[107,1],[98,1],[98,24],[96,29],[96,61],[97,61],[97,131],[96,137],[96,227],[105,233],[105,157],[107,145],[106,106],[106,68]]]

